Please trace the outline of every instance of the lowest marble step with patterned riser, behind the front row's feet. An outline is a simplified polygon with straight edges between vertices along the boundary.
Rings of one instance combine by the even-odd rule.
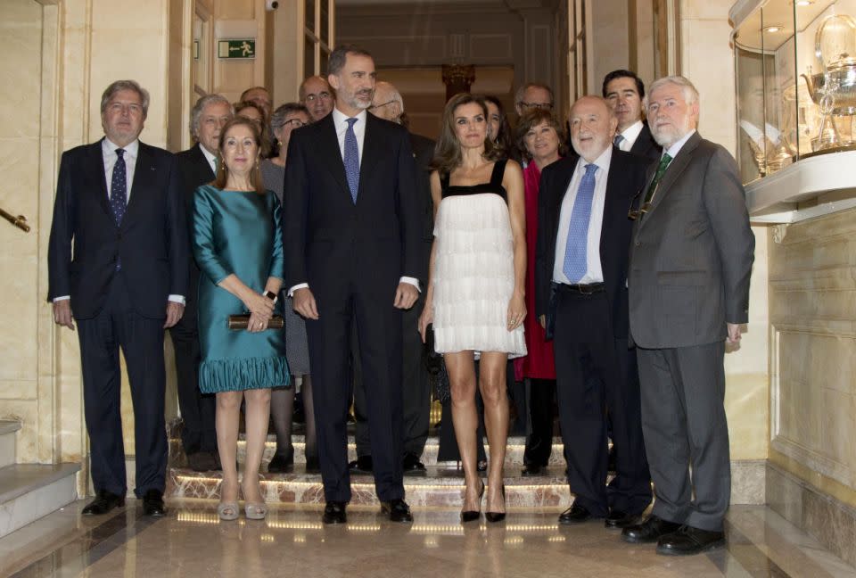
[[[522,477],[517,470],[507,470],[506,500],[509,509],[548,508],[559,511],[571,502],[571,493],[564,478],[564,468],[550,467],[545,475]],[[169,468],[167,498],[196,498],[219,500],[219,472],[197,473],[184,468]],[[321,475],[306,474],[295,467],[292,474],[262,474],[262,491],[269,504],[324,504]],[[352,505],[372,505],[378,500],[371,475],[351,475]],[[464,491],[464,475],[457,469],[427,467],[424,476],[405,476],[407,502],[417,508],[460,508]]]

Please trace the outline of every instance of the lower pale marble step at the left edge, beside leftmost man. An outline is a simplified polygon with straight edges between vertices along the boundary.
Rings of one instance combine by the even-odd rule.
[[[0,468],[0,537],[78,499],[80,464]]]

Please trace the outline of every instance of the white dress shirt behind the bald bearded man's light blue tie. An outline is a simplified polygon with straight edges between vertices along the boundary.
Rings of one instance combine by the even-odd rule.
[[[577,200],[577,191],[580,189],[582,176],[586,173],[588,161],[580,157],[577,167],[573,171],[571,184],[562,199],[562,209],[559,211],[559,230],[556,234],[556,260],[553,262],[553,281],[572,285],[588,285],[590,283],[603,283],[604,270],[600,263],[600,232],[604,225],[604,205],[606,201],[606,180],[609,175],[609,165],[613,160],[613,147],[607,146],[595,160],[597,165],[595,172],[595,194],[591,200],[591,214],[588,218],[588,239],[586,242],[586,274],[579,281],[572,281],[562,270],[564,268],[564,250],[568,244],[568,230],[571,228],[571,215],[573,203]]]

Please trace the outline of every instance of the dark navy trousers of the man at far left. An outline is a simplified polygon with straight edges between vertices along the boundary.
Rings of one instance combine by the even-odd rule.
[[[163,307],[166,312],[166,302]],[[95,318],[78,319],[83,404],[95,491],[125,495],[128,489],[119,408],[119,348],[128,367],[134,404],[134,492],[141,498],[146,491],[164,490],[167,430],[163,416],[163,320],[144,318],[136,312],[121,273],[113,277],[103,310]]]

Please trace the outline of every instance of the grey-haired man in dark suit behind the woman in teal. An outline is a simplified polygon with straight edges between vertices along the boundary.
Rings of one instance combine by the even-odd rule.
[[[188,231],[193,229],[193,194],[196,187],[210,183],[217,172],[220,130],[232,118],[232,104],[222,95],[205,95],[190,112],[190,132],[196,144],[177,153],[185,193]],[[192,246],[188,237],[188,247]],[[196,288],[199,268],[190,260],[185,314],[169,333],[176,351],[178,408],[184,422],[181,443],[188,465],[197,472],[219,469],[217,431],[214,426],[214,395],[199,391],[199,334],[196,330]]]

